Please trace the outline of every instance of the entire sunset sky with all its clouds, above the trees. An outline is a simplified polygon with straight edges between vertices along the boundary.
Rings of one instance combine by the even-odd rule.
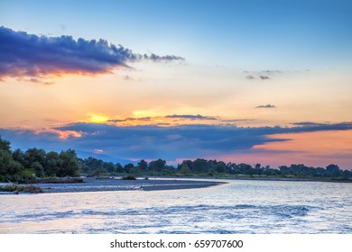
[[[12,148],[352,168],[352,2],[0,2]]]

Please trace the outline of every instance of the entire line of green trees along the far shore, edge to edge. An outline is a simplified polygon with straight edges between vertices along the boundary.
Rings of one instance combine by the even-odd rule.
[[[160,158],[149,163],[142,159],[136,165],[129,163],[122,166],[96,157],[79,158],[73,149],[60,153],[46,152],[41,148],[29,148],[24,152],[17,148],[11,151],[10,142],[0,137],[0,181],[67,175],[261,175],[351,179],[352,171],[341,170],[336,165],[311,167],[300,164],[271,168],[261,164],[251,166],[202,158],[184,160],[177,167],[166,165],[166,161]]]

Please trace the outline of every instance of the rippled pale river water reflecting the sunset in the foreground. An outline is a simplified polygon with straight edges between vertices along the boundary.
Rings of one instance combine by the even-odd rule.
[[[0,233],[352,233],[352,184],[226,182],[0,195]]]

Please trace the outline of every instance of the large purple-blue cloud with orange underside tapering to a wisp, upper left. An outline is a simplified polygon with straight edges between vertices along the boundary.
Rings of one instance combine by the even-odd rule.
[[[96,75],[135,60],[170,61],[184,58],[140,55],[107,40],[47,37],[0,27],[0,78],[4,76]]]

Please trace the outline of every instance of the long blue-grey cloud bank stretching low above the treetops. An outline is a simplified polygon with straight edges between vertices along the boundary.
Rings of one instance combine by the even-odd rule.
[[[68,139],[59,139],[55,131],[1,130],[3,139],[9,139],[13,148],[74,148],[79,153],[94,153],[104,149],[105,155],[121,158],[176,158],[211,157],[234,152],[250,153],[255,145],[289,139],[273,139],[267,136],[278,133],[299,133],[322,130],[352,130],[352,122],[334,124],[310,124],[283,127],[236,127],[220,125],[182,126],[129,126],[77,122],[52,130],[77,131]],[[59,149],[59,150],[60,150]]]

